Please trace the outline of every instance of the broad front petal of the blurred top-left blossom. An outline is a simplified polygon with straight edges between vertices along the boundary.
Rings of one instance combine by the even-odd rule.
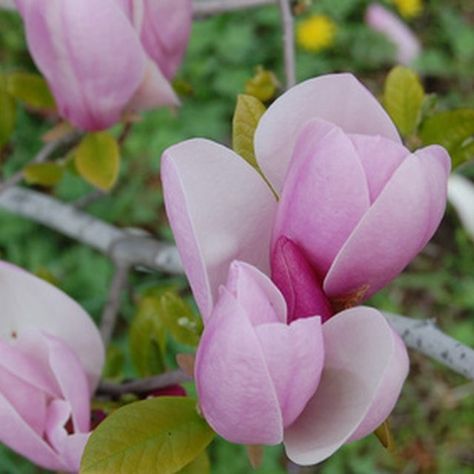
[[[29,50],[60,114],[86,130],[107,128],[145,74],[145,53],[114,0],[18,0]]]

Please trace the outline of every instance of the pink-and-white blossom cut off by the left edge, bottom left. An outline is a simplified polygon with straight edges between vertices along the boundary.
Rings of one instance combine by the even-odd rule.
[[[99,332],[60,290],[5,262],[0,308],[0,442],[45,469],[78,472],[104,362]]]

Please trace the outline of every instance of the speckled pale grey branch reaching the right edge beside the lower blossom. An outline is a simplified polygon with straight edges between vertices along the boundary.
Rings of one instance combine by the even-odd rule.
[[[384,313],[405,344],[474,380],[474,350],[444,334],[432,320]]]

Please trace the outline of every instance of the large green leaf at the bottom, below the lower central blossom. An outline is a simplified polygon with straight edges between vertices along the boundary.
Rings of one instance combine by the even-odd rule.
[[[174,474],[196,459],[213,437],[195,400],[159,397],[132,403],[92,433],[80,472]]]

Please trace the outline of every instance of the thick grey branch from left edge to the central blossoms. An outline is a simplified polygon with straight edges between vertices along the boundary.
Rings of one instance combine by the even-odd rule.
[[[45,194],[15,186],[0,193],[0,208],[86,244],[116,263],[183,273],[173,245],[158,242],[143,233],[120,229]]]

